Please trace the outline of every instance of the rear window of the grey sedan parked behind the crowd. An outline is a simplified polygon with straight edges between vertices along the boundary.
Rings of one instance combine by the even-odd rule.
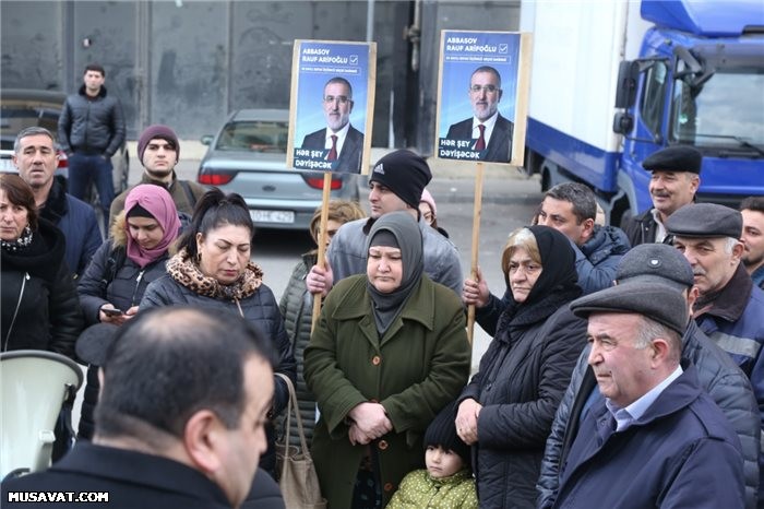
[[[287,122],[262,120],[228,122],[217,138],[215,149],[286,154],[287,132]]]

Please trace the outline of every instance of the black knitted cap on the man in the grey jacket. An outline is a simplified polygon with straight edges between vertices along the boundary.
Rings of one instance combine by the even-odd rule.
[[[419,209],[421,192],[431,179],[427,161],[407,150],[382,157],[369,176],[370,182],[380,182],[414,209]]]

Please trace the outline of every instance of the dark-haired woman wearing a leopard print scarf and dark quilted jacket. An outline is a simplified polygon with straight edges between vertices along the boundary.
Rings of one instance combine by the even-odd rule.
[[[191,224],[178,240],[179,250],[167,262],[167,275],[146,288],[140,309],[193,305],[240,315],[273,342],[278,362],[274,371],[295,380],[296,364],[290,343],[263,271],[250,261],[254,225],[239,194],[207,191],[194,210]],[[286,383],[275,377],[272,416],[288,401]],[[268,450],[260,466],[274,473],[275,433],[266,426]]]

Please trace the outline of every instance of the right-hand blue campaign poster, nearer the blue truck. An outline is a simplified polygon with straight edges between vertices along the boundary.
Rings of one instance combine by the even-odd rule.
[[[442,31],[435,156],[522,166],[530,35]]]

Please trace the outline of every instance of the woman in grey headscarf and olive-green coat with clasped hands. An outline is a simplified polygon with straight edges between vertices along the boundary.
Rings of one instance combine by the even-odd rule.
[[[422,273],[409,212],[381,216],[367,273],[327,295],[305,354],[321,418],[313,460],[329,507],[381,508],[422,469],[422,436],[469,374],[462,304]]]

